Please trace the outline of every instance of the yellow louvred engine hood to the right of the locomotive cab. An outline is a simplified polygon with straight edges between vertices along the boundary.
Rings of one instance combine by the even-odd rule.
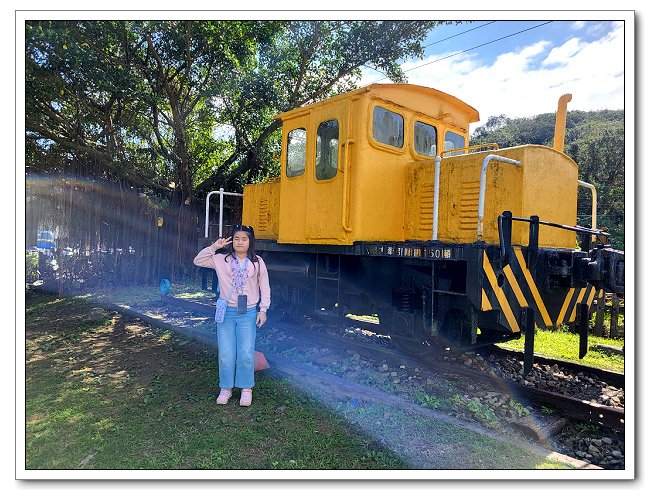
[[[478,205],[483,160],[491,152],[443,158],[440,164],[438,239],[477,241]],[[577,218],[578,166],[568,156],[544,146],[500,149],[499,156],[521,166],[492,160],[487,166],[482,241],[499,244],[498,217],[505,210],[515,217],[539,216],[540,220],[573,226]],[[427,240],[432,235],[433,162],[414,162],[406,168],[407,240]],[[551,201],[552,200],[552,201]],[[512,243],[528,245],[528,224],[513,222]],[[539,245],[574,248],[575,233],[540,226]]]

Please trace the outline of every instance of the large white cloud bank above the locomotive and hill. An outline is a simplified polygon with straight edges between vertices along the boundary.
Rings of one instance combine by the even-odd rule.
[[[490,116],[552,113],[558,98],[567,93],[573,96],[569,111],[624,107],[622,23],[593,42],[571,38],[553,47],[542,40],[501,54],[490,65],[479,63],[475,53],[450,55],[431,55],[407,62],[403,68],[409,83],[447,92],[476,108],[481,122],[472,130]],[[363,84],[381,77],[368,73]]]

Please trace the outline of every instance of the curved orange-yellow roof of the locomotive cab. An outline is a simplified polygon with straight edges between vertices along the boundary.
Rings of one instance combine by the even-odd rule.
[[[469,123],[477,122],[479,120],[478,111],[474,109],[472,106],[470,106],[469,104],[467,104],[466,102],[461,101],[457,97],[454,97],[440,90],[436,90],[434,88],[424,87],[422,85],[413,85],[410,83],[373,83],[371,85],[367,85],[365,87],[361,87],[356,90],[352,90],[350,92],[345,92],[344,94],[339,94],[330,97],[328,99],[324,99],[322,101],[309,104],[307,106],[302,106],[300,108],[295,108],[289,111],[285,111],[284,113],[280,113],[276,115],[275,118],[280,120],[285,120],[291,118],[294,115],[302,114],[306,110],[309,110],[310,108],[322,106],[323,104],[335,102],[338,100],[349,99],[355,95],[363,94],[366,92],[372,92],[378,95],[379,97],[381,97],[382,94],[385,93],[384,91],[389,89],[398,89],[402,92],[410,93],[410,94],[423,94],[431,98],[432,100],[447,102],[451,106],[457,108],[459,111],[465,112],[468,116]]]

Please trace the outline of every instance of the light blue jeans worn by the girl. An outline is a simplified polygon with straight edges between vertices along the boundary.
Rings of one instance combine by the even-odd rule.
[[[255,385],[255,322],[257,308],[237,314],[227,307],[223,323],[217,324],[219,348],[219,387],[247,389]]]

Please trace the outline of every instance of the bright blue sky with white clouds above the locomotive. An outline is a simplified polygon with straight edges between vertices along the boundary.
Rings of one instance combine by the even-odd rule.
[[[624,108],[624,22],[493,19],[431,30],[424,58],[402,63],[408,83],[477,109],[472,130],[490,116],[554,112],[566,93],[569,111]],[[389,80],[364,69],[361,84],[374,82]]]

